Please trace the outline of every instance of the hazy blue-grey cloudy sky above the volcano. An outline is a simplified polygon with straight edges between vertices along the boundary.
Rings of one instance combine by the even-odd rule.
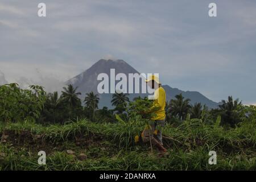
[[[40,2],[46,18],[37,15]],[[0,1],[7,81],[61,85],[104,57],[213,101],[232,95],[255,104],[256,1]]]

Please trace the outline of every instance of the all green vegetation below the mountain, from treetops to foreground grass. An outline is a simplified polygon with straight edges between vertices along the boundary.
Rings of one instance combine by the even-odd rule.
[[[112,111],[97,109],[99,98],[90,93],[82,107],[69,87],[59,98],[40,86],[0,86],[0,170],[256,169],[255,106],[229,97],[209,110],[176,96],[163,130],[168,154],[159,157],[141,137],[136,140],[150,122],[140,114],[150,101],[115,94]],[[38,164],[39,151],[46,151],[46,165]],[[217,165],[208,163],[209,151],[217,152]]]

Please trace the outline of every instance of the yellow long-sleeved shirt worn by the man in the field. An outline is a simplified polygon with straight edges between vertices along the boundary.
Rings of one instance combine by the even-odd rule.
[[[152,120],[163,120],[166,118],[166,91],[160,86],[155,90],[156,100],[154,100],[152,107],[150,107],[149,112],[154,113],[155,117]]]

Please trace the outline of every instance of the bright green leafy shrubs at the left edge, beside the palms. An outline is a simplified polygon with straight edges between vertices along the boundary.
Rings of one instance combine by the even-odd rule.
[[[36,121],[46,101],[42,86],[31,85],[23,90],[18,84],[0,86],[0,121]]]

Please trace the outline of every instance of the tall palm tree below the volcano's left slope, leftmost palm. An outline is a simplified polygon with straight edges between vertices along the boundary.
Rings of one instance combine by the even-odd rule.
[[[77,87],[74,89],[73,85],[69,84],[68,88],[63,87],[64,91],[62,91],[61,98],[63,98],[64,102],[67,102],[70,107],[75,107],[80,104],[80,98],[78,97],[81,95],[80,92],[76,92]]]

